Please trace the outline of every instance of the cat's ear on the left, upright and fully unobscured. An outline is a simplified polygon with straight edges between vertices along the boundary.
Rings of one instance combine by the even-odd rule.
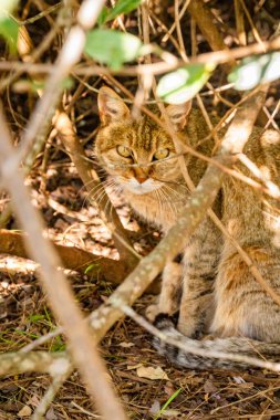
[[[129,115],[124,101],[110,87],[102,86],[97,97],[100,118],[103,124],[123,120]]]

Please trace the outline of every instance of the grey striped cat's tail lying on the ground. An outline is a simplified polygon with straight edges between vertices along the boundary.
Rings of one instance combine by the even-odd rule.
[[[193,339],[180,334],[168,316],[159,316],[155,325],[165,334],[167,340],[155,337],[154,347],[177,366],[203,370],[239,370],[252,366],[263,367],[265,360],[280,361],[280,344],[262,343],[242,337]],[[194,353],[189,353],[188,348],[193,348]]]

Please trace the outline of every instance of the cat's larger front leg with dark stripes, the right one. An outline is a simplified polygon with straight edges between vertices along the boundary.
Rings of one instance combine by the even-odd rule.
[[[214,313],[212,288],[220,258],[221,235],[207,218],[191,237],[184,255],[178,329],[198,338]]]

